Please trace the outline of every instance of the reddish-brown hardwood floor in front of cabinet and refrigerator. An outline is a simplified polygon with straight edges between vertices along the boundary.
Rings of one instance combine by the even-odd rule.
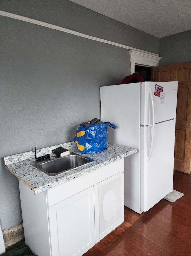
[[[191,255],[191,175],[174,171],[173,188],[184,197],[140,215],[125,207],[125,222],[84,256]]]

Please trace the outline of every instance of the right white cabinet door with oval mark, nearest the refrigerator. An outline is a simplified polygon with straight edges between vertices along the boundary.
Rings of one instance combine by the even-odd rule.
[[[124,173],[120,172],[94,186],[95,237],[103,237],[124,222]]]

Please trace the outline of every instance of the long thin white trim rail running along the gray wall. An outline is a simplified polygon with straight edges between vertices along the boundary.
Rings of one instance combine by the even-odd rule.
[[[150,53],[150,52],[147,52],[147,51],[139,50],[139,49],[127,46],[127,45],[123,45],[123,44],[120,44],[120,43],[115,43],[115,42],[108,41],[108,40],[105,40],[105,39],[102,39],[102,38],[93,37],[93,36],[83,34],[83,33],[80,33],[80,32],[74,31],[74,30],[59,27],[59,26],[56,26],[56,25],[53,25],[53,24],[50,24],[50,23],[46,23],[46,22],[36,20],[36,19],[27,18],[27,17],[20,16],[20,15],[14,14],[14,13],[9,13],[9,12],[5,12],[5,11],[0,10],[0,16],[5,16],[5,17],[13,18],[13,19],[19,19],[19,20],[22,20],[22,21],[25,21],[25,22],[33,23],[33,24],[40,25],[40,26],[47,27],[47,28],[56,29],[56,30],[59,30],[59,31],[62,31],[62,32],[66,32],[66,33],[69,33],[69,34],[79,36],[79,37],[85,37],[85,38],[88,38],[88,39],[91,39],[91,40],[94,40],[94,41],[111,44],[111,45],[118,46],[118,47],[121,47],[121,48],[129,49],[129,50],[135,50],[135,51],[144,52],[144,53],[147,53],[147,54],[152,54],[153,56],[159,56],[158,54],[155,54],[155,53]]]

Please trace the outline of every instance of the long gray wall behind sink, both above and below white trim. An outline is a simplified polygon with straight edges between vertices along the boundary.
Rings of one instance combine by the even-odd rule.
[[[46,3],[46,4],[45,4]],[[159,39],[70,1],[0,1],[0,9],[158,53]],[[129,75],[127,50],[0,17],[0,157],[73,140],[100,117],[99,87]],[[106,120],[107,121],[107,120]],[[18,180],[0,166],[1,228],[21,221]]]

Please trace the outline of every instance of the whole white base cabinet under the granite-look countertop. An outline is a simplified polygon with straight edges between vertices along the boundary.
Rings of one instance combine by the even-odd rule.
[[[124,159],[37,195],[19,188],[25,242],[38,256],[81,256],[124,221]]]

